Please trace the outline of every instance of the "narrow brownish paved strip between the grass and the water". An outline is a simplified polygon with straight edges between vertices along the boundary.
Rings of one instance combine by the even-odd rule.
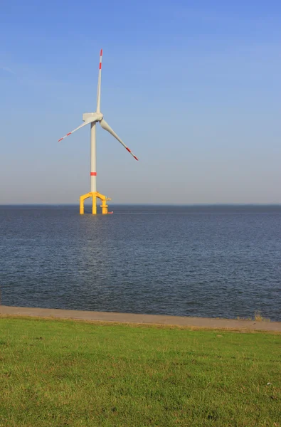
[[[14,307],[0,305],[0,317],[48,317],[52,319],[85,320],[88,322],[132,323],[141,325],[179,326],[196,329],[244,330],[281,332],[281,322],[256,320],[216,319],[211,317],[184,317],[169,315],[140,315],[120,312],[60,310],[57,308]]]

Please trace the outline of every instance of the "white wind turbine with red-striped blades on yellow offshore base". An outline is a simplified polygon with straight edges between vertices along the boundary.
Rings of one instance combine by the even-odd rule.
[[[104,196],[103,194],[100,194],[97,192],[97,169],[96,169],[96,139],[95,139],[95,125],[97,122],[100,123],[100,126],[102,129],[107,130],[107,132],[110,132],[110,134],[117,139],[117,141],[122,144],[122,146],[127,149],[129,154],[132,154],[132,157],[134,159],[138,160],[137,157],[132,153],[132,151],[127,147],[126,144],[116,135],[114,130],[108,125],[107,122],[105,122],[105,119],[103,118],[102,112],[100,112],[100,85],[102,80],[102,50],[100,51],[100,68],[99,68],[99,75],[97,80],[97,110],[95,112],[85,112],[83,114],[83,124],[76,127],[75,130],[72,132],[69,132],[64,137],[58,139],[58,142],[62,141],[69,135],[73,134],[78,129],[81,129],[81,127],[91,125],[90,129],[90,135],[91,135],[91,170],[90,170],[90,192],[87,194],[83,194],[83,196],[80,196],[80,214],[84,214],[84,201],[85,199],[88,199],[89,197],[92,197],[92,214],[97,214],[97,198],[102,201],[102,214],[107,214],[107,200],[111,200],[110,198]]]

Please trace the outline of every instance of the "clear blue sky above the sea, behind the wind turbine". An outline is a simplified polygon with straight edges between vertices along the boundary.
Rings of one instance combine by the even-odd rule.
[[[0,204],[281,203],[279,1],[3,0]]]

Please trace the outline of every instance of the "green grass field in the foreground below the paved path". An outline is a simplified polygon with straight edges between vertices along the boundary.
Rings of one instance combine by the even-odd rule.
[[[281,335],[2,317],[0,426],[281,426]]]

